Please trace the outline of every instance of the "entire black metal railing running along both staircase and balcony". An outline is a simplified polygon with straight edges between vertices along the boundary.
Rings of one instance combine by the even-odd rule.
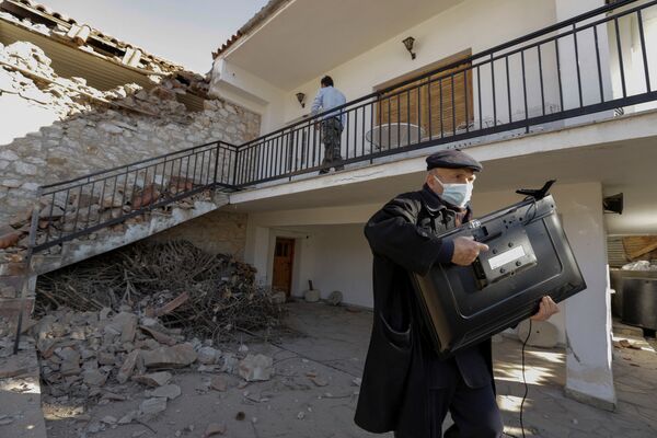
[[[463,57],[239,147],[217,141],[44,186],[39,220],[31,231],[38,234],[34,250],[206,189],[372,163],[656,101],[657,38],[646,37],[644,18],[657,15],[657,0],[631,4],[635,1],[618,1]],[[636,30],[634,47],[621,35],[626,28]],[[331,117],[343,124],[339,163],[325,161],[322,125]]]

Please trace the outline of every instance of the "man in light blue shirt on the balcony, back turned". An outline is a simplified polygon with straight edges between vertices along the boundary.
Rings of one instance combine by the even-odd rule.
[[[312,102],[311,115],[316,115],[336,106],[344,105],[347,102],[345,95],[333,87],[333,79],[330,76],[325,76],[321,80],[321,88]],[[322,161],[322,169],[320,175],[328,173],[331,168],[335,168],[335,171],[342,171],[344,165],[339,165],[342,161],[341,157],[341,136],[345,126],[345,115],[341,112],[328,113],[322,117],[321,122],[321,136],[322,142],[324,143],[324,160]]]

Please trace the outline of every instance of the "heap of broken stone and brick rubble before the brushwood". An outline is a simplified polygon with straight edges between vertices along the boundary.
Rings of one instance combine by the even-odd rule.
[[[164,334],[176,339],[173,346],[162,345],[147,333],[135,331],[138,322],[142,324],[151,318],[124,310],[116,314],[111,312],[103,319],[103,313],[106,312],[56,310],[32,328],[48,395],[87,399],[100,395],[99,390],[106,384],[122,385],[130,380],[155,388],[151,391],[153,396],[175,397],[172,395],[175,388],[169,384],[172,373],[158,369],[203,366],[198,358],[210,350],[212,364],[227,372],[233,371],[234,360],[239,360],[230,351],[222,354],[198,339],[184,339],[176,328],[160,325]],[[268,380],[274,372],[273,360],[260,354],[246,355],[239,362],[239,372],[245,380]]]

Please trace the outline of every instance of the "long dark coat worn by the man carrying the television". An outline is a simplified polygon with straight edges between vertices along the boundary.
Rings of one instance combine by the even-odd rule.
[[[446,362],[431,349],[408,272],[424,275],[434,263],[450,263],[453,243],[437,235],[457,226],[457,215],[425,185],[392,199],[365,227],[373,253],[374,318],[355,422],[366,430],[427,437],[429,389],[454,383],[446,381]],[[463,221],[470,216],[468,209]],[[489,341],[448,360],[468,387],[491,384]]]

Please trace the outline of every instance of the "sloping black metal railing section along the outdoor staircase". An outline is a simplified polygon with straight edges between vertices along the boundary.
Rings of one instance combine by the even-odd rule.
[[[35,251],[217,186],[232,188],[237,147],[216,141],[41,187]],[[38,230],[38,232],[37,232]]]

